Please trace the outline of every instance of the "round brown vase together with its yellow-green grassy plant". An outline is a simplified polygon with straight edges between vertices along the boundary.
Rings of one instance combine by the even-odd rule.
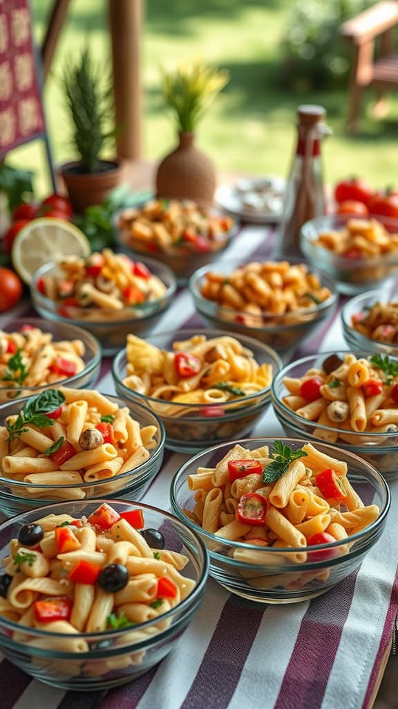
[[[219,71],[195,62],[163,72],[162,84],[166,104],[174,113],[178,145],[157,168],[158,197],[193,199],[210,205],[214,199],[215,167],[203,152],[195,147],[195,129],[210,103],[229,80],[226,71]]]

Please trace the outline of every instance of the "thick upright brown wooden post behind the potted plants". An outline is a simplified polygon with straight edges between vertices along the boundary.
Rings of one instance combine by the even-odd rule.
[[[141,157],[142,0],[108,0],[118,157]]]

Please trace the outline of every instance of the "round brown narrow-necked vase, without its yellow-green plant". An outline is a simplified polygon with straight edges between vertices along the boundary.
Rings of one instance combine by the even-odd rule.
[[[216,174],[212,162],[194,145],[194,133],[180,133],[179,143],[161,161],[157,169],[158,197],[193,199],[211,205],[215,194]]]

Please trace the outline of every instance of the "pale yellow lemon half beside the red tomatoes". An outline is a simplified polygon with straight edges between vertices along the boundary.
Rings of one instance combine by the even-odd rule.
[[[21,279],[30,284],[37,269],[65,256],[86,257],[90,242],[74,224],[52,217],[33,219],[16,236],[11,259]]]

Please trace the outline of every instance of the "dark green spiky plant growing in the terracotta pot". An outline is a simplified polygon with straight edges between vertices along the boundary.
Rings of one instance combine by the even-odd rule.
[[[72,121],[72,145],[80,157],[81,172],[95,173],[101,164],[101,152],[114,133],[108,130],[113,118],[110,82],[93,62],[89,50],[81,53],[62,76],[67,109]]]

